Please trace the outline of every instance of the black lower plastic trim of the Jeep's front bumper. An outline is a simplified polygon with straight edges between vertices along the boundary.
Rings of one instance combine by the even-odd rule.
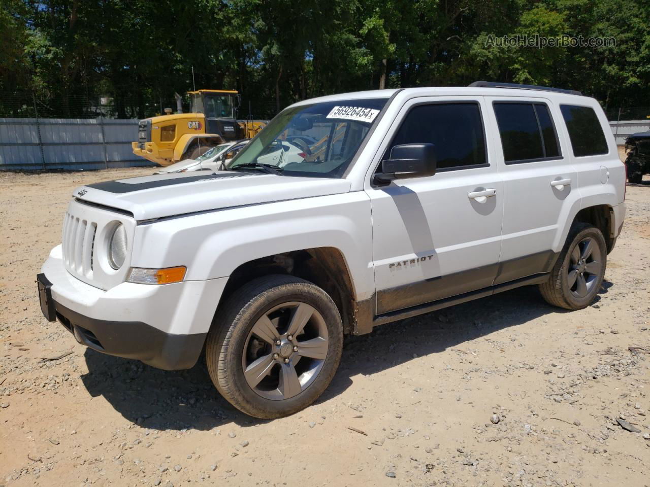
[[[88,318],[54,302],[57,318],[77,342],[108,355],[141,360],[165,370],[189,369],[196,364],[207,333],[177,335],[142,321]]]

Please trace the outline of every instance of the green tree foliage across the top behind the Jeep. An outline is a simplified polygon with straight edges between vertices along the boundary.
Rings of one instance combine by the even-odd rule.
[[[574,88],[612,106],[650,99],[650,0],[0,0],[0,7],[0,110],[16,115],[34,106],[73,115],[109,97],[118,116],[149,116],[174,106],[174,92],[194,82],[275,108],[334,92],[478,79]],[[487,42],[517,35],[616,44]]]

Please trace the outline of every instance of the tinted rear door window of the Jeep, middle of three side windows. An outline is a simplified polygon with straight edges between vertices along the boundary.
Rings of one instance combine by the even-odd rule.
[[[561,158],[558,138],[543,103],[493,103],[506,164]]]

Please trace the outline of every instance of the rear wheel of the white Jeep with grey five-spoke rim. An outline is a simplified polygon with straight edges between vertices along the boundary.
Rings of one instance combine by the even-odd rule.
[[[541,295],[553,306],[567,310],[585,308],[601,288],[606,266],[602,232],[588,223],[575,223],[549,281],[539,284]]]

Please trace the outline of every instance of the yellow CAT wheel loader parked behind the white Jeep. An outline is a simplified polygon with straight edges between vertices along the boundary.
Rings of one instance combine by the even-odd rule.
[[[131,143],[136,156],[170,166],[196,159],[228,140],[252,138],[266,125],[263,120],[237,120],[240,97],[235,91],[198,90],[188,95],[191,113],[182,112],[176,95],[178,113],[140,120],[138,141]]]

